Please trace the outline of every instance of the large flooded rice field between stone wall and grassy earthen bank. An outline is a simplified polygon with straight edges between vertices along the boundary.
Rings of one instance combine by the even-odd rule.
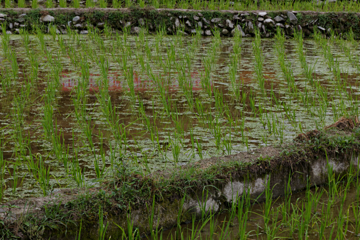
[[[40,29],[1,36],[1,201],[291,142],[358,116],[358,42]]]

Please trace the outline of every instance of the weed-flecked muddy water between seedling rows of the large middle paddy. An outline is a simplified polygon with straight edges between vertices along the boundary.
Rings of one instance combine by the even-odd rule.
[[[123,36],[119,38],[124,42]],[[211,96],[203,88],[202,76],[205,74],[205,58],[209,56],[214,40],[200,39],[195,49],[191,47],[193,41],[192,37],[179,39],[179,36],[163,36],[159,42],[157,36],[148,35],[145,37],[145,43],[149,46],[147,48],[139,44],[139,37],[128,36],[127,43],[120,48],[115,38],[102,37],[102,41],[98,41],[92,36],[78,36],[76,40],[63,36],[64,47],[62,47],[57,39],[54,41],[52,36],[46,35],[43,49],[39,38],[30,36],[28,46],[33,54],[28,54],[22,36],[12,35],[9,45],[16,54],[19,66],[17,78],[12,77],[12,60],[5,56],[3,49],[0,52],[1,76],[4,79],[7,75],[11,81],[9,86],[0,90],[0,127],[2,127],[0,131],[3,136],[3,155],[6,161],[2,188],[3,201],[42,195],[43,191],[39,183],[29,173],[27,160],[29,156],[37,156],[35,162],[39,162],[39,156],[42,156],[41,164],[46,168],[49,167],[48,186],[51,191],[57,191],[59,187],[77,187],[69,172],[69,162],[74,161],[79,162],[79,167],[85,176],[85,184],[96,186],[98,179],[94,160],[100,162],[100,169],[105,166],[104,173],[109,176],[112,175],[114,165],[121,161],[145,173],[174,168],[176,165],[198,161],[201,157],[236,154],[256,147],[292,141],[297,134],[333,123],[351,106],[354,104],[358,106],[356,98],[359,94],[358,72],[344,54],[341,54],[336,43],[330,44],[334,58],[340,64],[341,82],[344,84],[341,91],[336,88],[338,83],[334,80],[334,73],[327,68],[320,47],[314,41],[304,42],[307,62],[315,66],[314,79],[327,93],[329,102],[324,105],[323,98],[318,95],[319,86],[314,87],[305,79],[295,50],[296,42],[292,40],[285,42],[285,52],[291,62],[295,84],[300,91],[306,89],[309,98],[312,99],[311,106],[305,107],[298,94],[289,90],[283,78],[274,49],[274,40],[262,40],[265,94],[259,89],[256,81],[252,40],[242,40],[241,60],[237,71],[237,82],[242,99],[233,96],[229,80],[229,57],[233,51],[233,40],[221,39],[221,45],[211,61],[209,83]],[[166,64],[171,45],[175,46],[175,61],[170,63],[169,69]],[[158,50],[156,50],[157,46]],[[131,101],[130,86],[121,63],[125,58],[124,48],[130,49],[131,52],[126,57],[125,65],[133,67],[135,101]],[[356,51],[355,49],[354,54],[357,53]],[[190,56],[187,59],[186,53]],[[39,71],[35,81],[31,81],[32,55],[38,59],[36,65]],[[52,56],[51,63],[48,56]],[[76,86],[83,77],[79,62],[85,56],[89,66],[89,77],[86,79],[88,83],[78,90]],[[104,86],[101,64],[98,64],[102,61],[101,56],[109,63],[106,86],[118,116],[115,125],[121,124],[124,127],[122,133],[126,136],[126,141],[123,139],[125,144],[121,146],[116,141],[118,136],[114,136],[110,131],[106,116],[100,108],[100,89]],[[120,63],[116,62],[116,59],[120,59]],[[141,63],[141,59],[144,64]],[[54,83],[51,70],[56,63],[55,60],[61,65],[58,85]],[[186,79],[191,86],[193,100],[195,98],[199,100],[207,113],[206,116],[211,116],[212,120],[201,120],[199,109],[189,106],[175,63],[186,66]],[[172,114],[167,114],[148,69],[165,82],[165,96],[171,105]],[[89,149],[89,138],[84,134],[84,124],[79,123],[75,116],[74,99],[78,91],[82,91],[86,99],[84,116],[86,123],[89,123],[88,129],[92,132],[94,149]],[[218,104],[214,97],[215,91],[218,98],[222,98]],[[50,99],[53,107],[52,124],[54,128],[56,125],[57,130],[54,131],[60,136],[60,142],[64,144],[62,153],[66,153],[68,159],[67,169],[64,162],[55,154],[55,143],[45,137],[44,104],[48,92],[53,93]],[[19,98],[19,96],[24,97],[20,101],[24,103],[23,112],[20,113],[24,120],[20,123],[16,112],[18,107],[15,104],[15,97]],[[348,99],[352,99],[353,102],[349,102]],[[139,100],[143,103],[145,115],[153,126],[154,140],[151,140],[149,129],[141,119]],[[339,109],[340,101],[344,102],[343,109]],[[290,113],[285,113],[285,107],[290,109]],[[321,112],[323,108],[325,112]],[[211,121],[217,123],[218,133],[211,130]],[[18,128],[15,127],[15,123],[21,124],[21,133],[16,130]],[[278,131],[272,132],[273,128]],[[192,143],[191,136],[194,141],[201,143],[201,146]],[[23,153],[19,150],[20,143],[26,145]],[[103,157],[100,156],[101,152],[104,153]],[[14,188],[14,185],[17,187]]]

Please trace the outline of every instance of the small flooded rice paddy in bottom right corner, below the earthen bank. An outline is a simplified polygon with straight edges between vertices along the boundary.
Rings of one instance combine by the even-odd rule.
[[[268,188],[262,204],[251,205],[245,194],[222,214],[210,211],[200,221],[158,233],[156,239],[358,239],[359,182],[329,179],[330,187],[299,193],[288,188],[284,197],[273,200]]]

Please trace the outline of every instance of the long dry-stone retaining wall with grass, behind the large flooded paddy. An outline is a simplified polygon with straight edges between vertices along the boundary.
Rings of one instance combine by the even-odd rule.
[[[204,36],[219,31],[221,36],[233,36],[237,31],[244,37],[254,36],[259,29],[261,36],[271,38],[276,28],[283,29],[287,36],[302,30],[305,37],[311,36],[314,29],[326,34],[344,34],[350,29],[360,36],[359,13],[311,12],[311,11],[197,11],[184,9],[1,9],[0,23],[9,34],[20,33],[21,28],[32,30],[42,27],[45,33],[49,26],[56,26],[58,34],[67,34],[68,27],[80,34],[89,29],[102,30],[107,23],[113,31],[124,28],[137,34],[141,29],[156,32],[165,28],[167,34],[195,34],[201,31]]]

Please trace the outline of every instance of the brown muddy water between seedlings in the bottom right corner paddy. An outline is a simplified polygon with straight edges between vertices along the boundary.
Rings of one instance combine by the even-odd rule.
[[[344,188],[345,186],[343,185],[341,187]],[[268,225],[276,226],[277,230],[268,232],[268,234],[264,229],[265,204],[263,202],[261,204],[252,205],[248,209],[248,220],[245,229],[239,226],[237,215],[231,218],[229,210],[224,210],[223,214],[212,217],[212,223],[206,220],[197,221],[194,224],[181,224],[181,231],[178,231],[180,228],[174,227],[173,229],[164,231],[161,235],[163,235],[163,238],[165,239],[175,239],[179,232],[182,232],[184,236],[183,239],[193,239],[193,235],[200,239],[239,239],[239,233],[246,233],[244,234],[244,236],[247,235],[246,239],[358,239],[359,235],[356,235],[356,231],[358,233],[360,229],[356,226],[357,222],[355,221],[355,218],[359,219],[358,211],[356,211],[356,209],[359,208],[358,189],[356,190],[355,186],[350,187],[346,195],[346,200],[344,201],[342,212],[340,212],[340,198],[344,192],[339,191],[339,193],[341,192],[342,194],[339,194],[336,197],[336,200],[331,204],[330,210],[327,211],[327,206],[330,202],[330,198],[328,197],[329,189],[327,187],[310,189],[310,196],[318,194],[321,190],[325,190],[325,192],[323,192],[319,197],[319,200],[313,202],[310,207],[311,221],[309,223],[307,235],[305,233],[299,234],[299,228],[301,225],[304,225],[304,218],[301,218],[300,216],[309,209],[309,207],[307,207],[309,199],[307,191],[292,194],[290,197],[279,197],[278,199],[273,200],[273,212]],[[314,203],[316,206],[314,206]],[[290,208],[287,208],[289,206]],[[284,207],[285,218],[283,218]],[[236,214],[237,211],[239,210],[236,209]],[[243,213],[245,213],[245,210],[243,210]],[[344,226],[340,227],[344,229],[344,234],[340,237],[337,235],[341,232],[338,228],[339,214],[342,214],[346,218]],[[295,217],[295,215],[299,217]],[[321,232],[321,225],[325,222],[328,224],[323,228],[324,231],[323,234],[321,234],[322,237],[320,237],[319,231]]]

